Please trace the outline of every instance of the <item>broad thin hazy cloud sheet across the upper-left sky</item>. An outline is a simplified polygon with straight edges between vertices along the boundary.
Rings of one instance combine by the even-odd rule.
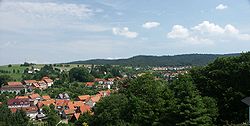
[[[48,33],[58,29],[80,32],[108,31],[111,29],[108,26],[88,20],[102,11],[85,4],[5,0],[0,6],[0,30],[32,34],[35,34],[34,31]]]

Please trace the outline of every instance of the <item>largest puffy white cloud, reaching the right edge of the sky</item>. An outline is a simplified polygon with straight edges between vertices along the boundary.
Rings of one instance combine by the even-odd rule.
[[[231,24],[222,27],[209,21],[203,21],[190,29],[182,25],[174,25],[167,37],[187,41],[191,44],[213,44],[215,41],[223,40],[250,40],[250,34],[240,33],[240,30]]]

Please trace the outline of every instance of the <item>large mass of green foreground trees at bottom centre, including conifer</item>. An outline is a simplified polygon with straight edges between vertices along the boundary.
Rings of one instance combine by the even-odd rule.
[[[91,125],[210,126],[217,118],[215,100],[200,96],[190,77],[169,85],[146,74],[122,87],[96,104]]]

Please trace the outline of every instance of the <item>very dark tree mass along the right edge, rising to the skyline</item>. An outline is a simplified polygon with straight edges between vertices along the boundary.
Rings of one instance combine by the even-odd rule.
[[[218,58],[206,67],[193,69],[191,76],[203,96],[217,100],[219,123],[246,121],[246,105],[241,99],[250,96],[250,52]]]

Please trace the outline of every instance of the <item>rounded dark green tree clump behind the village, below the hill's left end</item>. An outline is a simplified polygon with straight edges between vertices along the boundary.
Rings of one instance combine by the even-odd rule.
[[[70,81],[88,82],[93,81],[94,77],[84,67],[75,67],[69,71]]]

